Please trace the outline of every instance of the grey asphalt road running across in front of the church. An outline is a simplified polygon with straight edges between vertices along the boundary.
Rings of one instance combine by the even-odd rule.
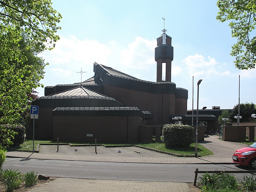
[[[4,170],[18,170],[21,173],[35,171],[51,177],[191,183],[194,182],[196,168],[200,171],[244,169],[237,165],[109,163],[22,158],[7,158],[3,164]],[[237,174],[237,177],[241,179],[242,174]]]

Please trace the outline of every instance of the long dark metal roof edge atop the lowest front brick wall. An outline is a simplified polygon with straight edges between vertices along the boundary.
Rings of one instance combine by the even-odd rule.
[[[53,116],[140,116],[152,119],[149,111],[137,107],[57,107]]]

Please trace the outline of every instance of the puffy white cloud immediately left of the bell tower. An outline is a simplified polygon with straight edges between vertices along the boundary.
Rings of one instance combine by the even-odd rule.
[[[136,37],[135,41],[128,45],[128,49],[124,49],[120,53],[120,63],[128,68],[138,70],[150,70],[155,62],[156,40],[147,40],[142,37]]]

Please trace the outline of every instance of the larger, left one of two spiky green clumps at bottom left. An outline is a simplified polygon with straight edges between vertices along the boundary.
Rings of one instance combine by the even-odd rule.
[[[6,191],[14,191],[19,188],[21,182],[21,175],[18,170],[5,170],[3,172],[3,184],[6,187]]]

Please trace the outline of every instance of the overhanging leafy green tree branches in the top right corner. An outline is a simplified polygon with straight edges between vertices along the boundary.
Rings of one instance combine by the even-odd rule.
[[[217,19],[221,22],[231,20],[231,36],[237,38],[230,54],[236,57],[235,66],[242,70],[255,68],[256,37],[252,33],[255,33],[256,1],[218,0],[217,6]]]

